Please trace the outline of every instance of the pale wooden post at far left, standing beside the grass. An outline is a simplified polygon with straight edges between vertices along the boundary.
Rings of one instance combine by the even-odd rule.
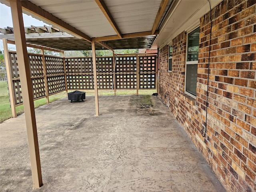
[[[3,44],[4,44],[4,60],[5,60],[5,65],[6,65],[6,73],[7,73],[7,79],[8,79],[8,89],[9,89],[9,94],[10,94],[10,104],[12,108],[12,117],[17,117],[17,112],[16,112],[16,103],[15,103],[15,98],[14,98],[14,86],[12,82],[12,64],[10,62],[10,56],[9,56],[9,51],[8,51],[8,44],[7,44],[7,39],[3,39]]]

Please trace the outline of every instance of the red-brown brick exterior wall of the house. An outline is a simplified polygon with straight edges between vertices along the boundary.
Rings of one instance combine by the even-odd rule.
[[[226,190],[256,191],[256,1],[222,1],[212,9],[211,43],[210,28],[207,13],[200,18],[196,98],[185,93],[186,31],[172,39],[172,72],[168,45],[159,50],[159,96]]]

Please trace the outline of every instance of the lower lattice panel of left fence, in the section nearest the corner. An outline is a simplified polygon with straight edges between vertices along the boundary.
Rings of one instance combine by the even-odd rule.
[[[65,90],[65,77],[64,75],[59,76],[48,76],[48,92],[53,94]]]

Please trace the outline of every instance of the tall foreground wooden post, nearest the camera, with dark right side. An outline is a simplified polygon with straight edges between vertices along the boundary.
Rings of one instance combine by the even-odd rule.
[[[20,83],[22,87],[22,98],[28,134],[28,148],[31,161],[33,187],[39,188],[40,186],[42,186],[43,182],[36,130],[36,117],[33,101],[34,96],[32,90],[32,81],[30,78],[30,65],[26,48],[26,38],[22,17],[21,2],[16,0],[10,0],[10,7],[12,11],[14,38],[16,43],[17,58],[19,62],[18,65],[20,71]]]

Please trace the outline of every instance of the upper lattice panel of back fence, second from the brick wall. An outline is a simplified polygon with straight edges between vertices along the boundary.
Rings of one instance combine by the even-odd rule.
[[[116,73],[136,72],[136,57],[121,56],[116,58]]]

